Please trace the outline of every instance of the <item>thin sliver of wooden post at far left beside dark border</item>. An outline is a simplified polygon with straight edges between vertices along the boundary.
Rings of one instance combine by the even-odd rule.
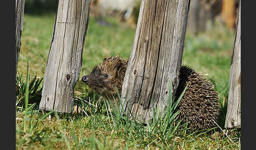
[[[24,6],[25,0],[16,0],[16,45],[15,45],[15,55],[16,55],[16,70],[15,70],[15,80],[18,67],[18,56],[19,50],[21,50],[21,34],[23,30],[24,22]]]

